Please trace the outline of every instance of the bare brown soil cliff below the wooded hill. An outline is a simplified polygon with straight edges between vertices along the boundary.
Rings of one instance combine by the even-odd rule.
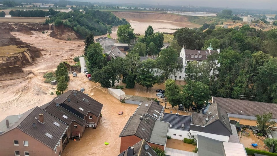
[[[59,40],[74,40],[81,38],[81,36],[74,32],[71,28],[66,28],[63,25],[55,26],[54,31],[50,33],[50,36]]]

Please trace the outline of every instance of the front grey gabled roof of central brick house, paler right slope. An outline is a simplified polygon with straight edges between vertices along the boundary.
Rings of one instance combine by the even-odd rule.
[[[169,123],[156,120],[149,114],[142,115],[142,120],[140,120],[140,116],[131,116],[119,137],[136,135],[141,139],[145,139],[147,142],[152,141],[165,146]],[[164,135],[165,133],[166,135]]]

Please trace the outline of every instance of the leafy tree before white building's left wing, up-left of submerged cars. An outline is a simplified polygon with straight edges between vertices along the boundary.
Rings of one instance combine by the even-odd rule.
[[[142,67],[138,70],[136,83],[139,83],[140,85],[146,87],[146,89],[152,88],[154,84],[158,82],[158,76],[154,75],[155,66],[155,60],[144,60],[142,62]]]

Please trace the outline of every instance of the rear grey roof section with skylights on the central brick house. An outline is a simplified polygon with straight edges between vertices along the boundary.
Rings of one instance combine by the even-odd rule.
[[[145,105],[148,105],[147,107]],[[164,111],[164,106],[158,105],[156,101],[147,101],[143,102],[139,105],[133,115],[142,115],[142,114],[149,114],[153,118],[160,120],[160,117]],[[158,117],[154,116],[157,115]]]

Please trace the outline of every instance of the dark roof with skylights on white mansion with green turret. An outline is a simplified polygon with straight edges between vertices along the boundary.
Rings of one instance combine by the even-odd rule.
[[[207,56],[210,55],[208,50],[190,50],[190,49],[185,49],[186,51],[186,60],[191,60],[191,61],[203,61],[207,60]],[[212,50],[211,54],[213,53],[218,53],[216,50]],[[195,58],[195,56],[197,58]],[[199,58],[202,57],[202,58]]]

